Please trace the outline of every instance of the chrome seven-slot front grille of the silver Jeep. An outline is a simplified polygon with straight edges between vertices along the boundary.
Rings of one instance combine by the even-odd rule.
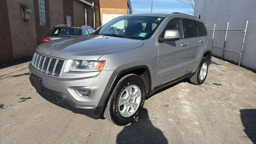
[[[31,64],[40,72],[53,76],[60,76],[64,60],[43,56],[35,52]]]

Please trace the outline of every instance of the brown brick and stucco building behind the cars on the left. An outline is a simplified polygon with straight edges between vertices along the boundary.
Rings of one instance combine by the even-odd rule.
[[[0,4],[0,64],[31,57],[58,24],[93,28],[101,24],[99,0],[0,0]]]

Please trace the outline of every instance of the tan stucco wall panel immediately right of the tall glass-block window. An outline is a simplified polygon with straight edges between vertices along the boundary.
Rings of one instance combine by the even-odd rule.
[[[64,24],[63,0],[49,0],[51,29],[58,24]]]

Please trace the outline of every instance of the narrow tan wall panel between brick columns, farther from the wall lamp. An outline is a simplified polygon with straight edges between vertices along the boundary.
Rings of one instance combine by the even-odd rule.
[[[74,26],[84,26],[84,4],[78,0],[73,0]]]

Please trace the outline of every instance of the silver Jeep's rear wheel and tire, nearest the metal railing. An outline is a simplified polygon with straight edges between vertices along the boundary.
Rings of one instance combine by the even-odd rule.
[[[192,76],[189,80],[192,84],[196,84],[196,85],[200,85],[204,83],[204,80],[207,77],[207,73],[208,73],[208,60],[206,57],[203,57],[198,69],[196,70],[196,73],[194,74],[194,76]]]

